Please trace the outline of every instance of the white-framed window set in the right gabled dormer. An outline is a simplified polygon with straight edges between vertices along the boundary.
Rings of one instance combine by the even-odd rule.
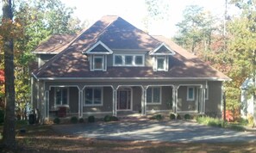
[[[153,70],[167,71],[168,70],[168,56],[155,56],[153,58]]]

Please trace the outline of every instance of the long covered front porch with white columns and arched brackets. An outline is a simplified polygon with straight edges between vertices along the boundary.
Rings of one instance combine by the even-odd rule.
[[[43,119],[106,114],[204,113],[205,84],[70,85],[47,84]],[[44,106],[44,107],[43,107]],[[59,112],[59,110],[62,110]]]

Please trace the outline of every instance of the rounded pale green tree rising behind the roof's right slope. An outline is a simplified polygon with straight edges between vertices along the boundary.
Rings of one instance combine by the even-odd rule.
[[[196,47],[201,44],[204,46],[203,50],[208,50],[215,30],[214,16],[209,11],[204,11],[203,7],[190,5],[184,9],[183,17],[184,19],[176,25],[179,31],[174,37],[176,42],[193,53],[197,53]],[[200,48],[198,50],[200,51]]]

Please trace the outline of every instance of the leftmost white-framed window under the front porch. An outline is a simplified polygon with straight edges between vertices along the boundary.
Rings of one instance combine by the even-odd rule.
[[[64,87],[56,87],[54,89],[54,102],[56,106],[69,105],[69,89]]]

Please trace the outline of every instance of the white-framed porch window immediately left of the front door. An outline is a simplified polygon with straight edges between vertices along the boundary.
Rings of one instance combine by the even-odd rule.
[[[84,89],[84,106],[102,106],[103,88],[90,87]]]

